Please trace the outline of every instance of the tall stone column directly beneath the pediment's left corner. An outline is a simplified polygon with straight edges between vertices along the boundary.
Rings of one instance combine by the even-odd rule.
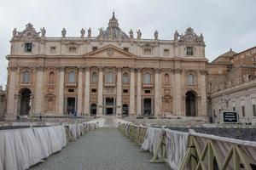
[[[90,114],[90,67],[85,69],[84,115]]]

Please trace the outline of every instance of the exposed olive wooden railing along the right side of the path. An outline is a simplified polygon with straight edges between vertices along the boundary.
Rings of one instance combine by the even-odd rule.
[[[119,130],[137,144],[143,144],[149,135],[148,127],[133,124],[119,124]],[[163,133],[153,150],[153,157],[150,160],[153,163],[168,162],[168,157],[171,157],[167,150],[167,129],[159,128],[159,130]],[[228,139],[189,130],[187,143],[185,154],[177,169],[256,169],[256,142]]]

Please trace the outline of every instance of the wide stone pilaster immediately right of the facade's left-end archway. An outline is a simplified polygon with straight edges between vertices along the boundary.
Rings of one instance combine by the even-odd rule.
[[[44,67],[39,66],[36,68],[37,71],[37,87],[36,87],[36,102],[35,102],[35,114],[42,114],[42,99],[43,99],[43,76],[44,76]]]

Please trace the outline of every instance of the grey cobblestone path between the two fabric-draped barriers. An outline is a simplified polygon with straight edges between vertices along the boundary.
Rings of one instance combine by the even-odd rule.
[[[106,120],[110,125],[112,122]],[[148,152],[139,152],[118,129],[98,128],[73,141],[61,152],[30,169],[65,170],[166,170],[167,163],[150,163]]]

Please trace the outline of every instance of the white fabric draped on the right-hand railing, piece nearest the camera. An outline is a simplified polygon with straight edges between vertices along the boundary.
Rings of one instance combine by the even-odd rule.
[[[179,169],[186,154],[189,133],[165,129],[166,131],[166,156],[172,169]]]

